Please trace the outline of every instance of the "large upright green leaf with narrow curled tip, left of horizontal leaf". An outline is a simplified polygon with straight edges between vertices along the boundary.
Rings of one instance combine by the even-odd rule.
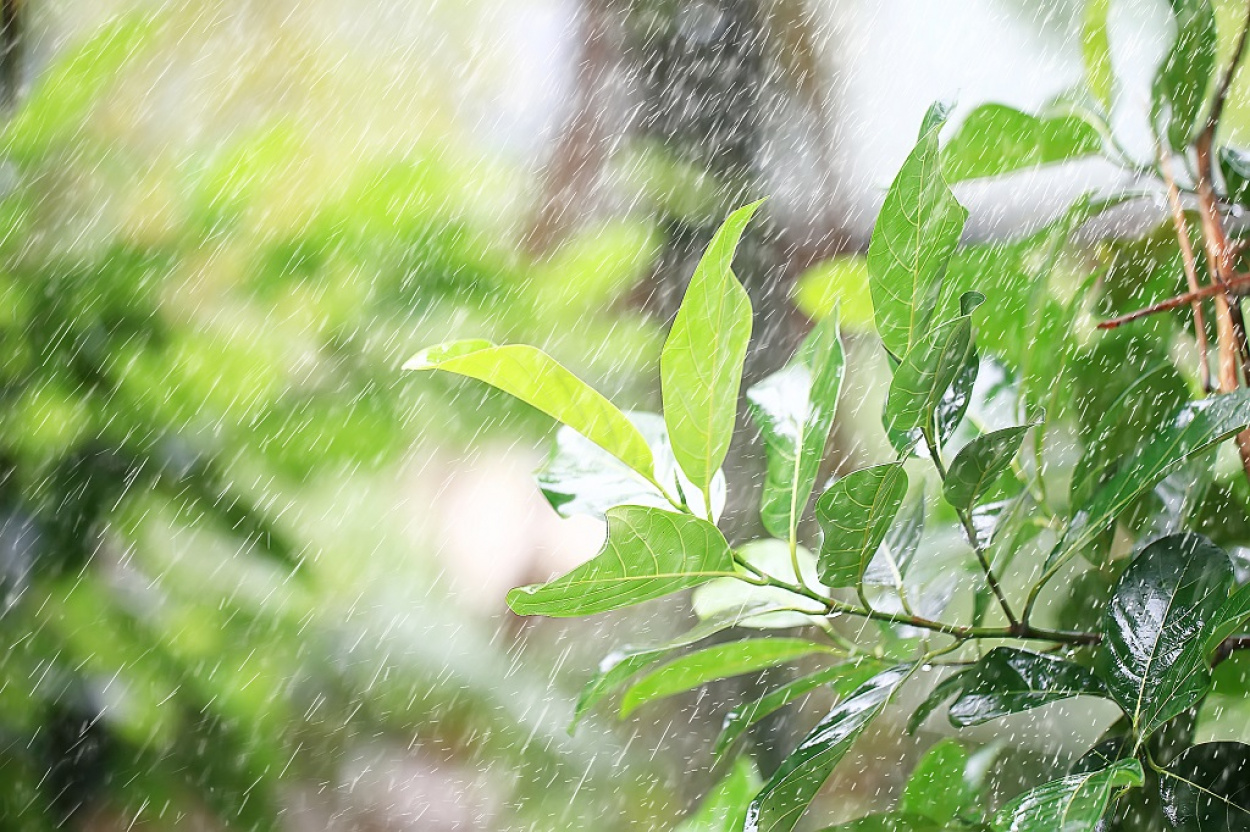
[[[890,185],[868,249],[869,289],[885,349],[904,356],[929,331],[946,261],[968,211],[941,176],[935,117]]]

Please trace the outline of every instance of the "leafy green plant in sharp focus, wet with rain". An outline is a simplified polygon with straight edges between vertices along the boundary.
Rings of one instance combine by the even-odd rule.
[[[662,417],[618,410],[528,346],[458,341],[405,365],[485,381],[561,422],[540,483],[558,511],[606,520],[602,551],[549,583],[514,590],[515,612],[585,616],[694,588],[695,630],[614,655],[586,686],[579,717],[625,685],[622,713],[799,657],[820,665],[730,712],[718,752],[816,687],[839,696],[762,786],[735,768],[709,798],[714,808],[691,820],[698,828],[792,830],[855,740],[934,666],[948,675],[911,731],[948,702],[955,727],[1075,696],[1112,702],[1122,717],[1066,771],[999,807],[964,776],[962,747],[942,741],[894,811],[838,828],[1250,825],[1250,746],[1195,742],[1215,718],[1212,698],[1236,707],[1248,696],[1244,675],[1220,673],[1250,647],[1240,635],[1250,586],[1220,546],[1250,542],[1241,521],[1250,350],[1239,295],[1250,275],[1240,265],[1245,242],[1226,222],[1246,199],[1250,164],[1231,146],[1216,150],[1245,30],[1216,71],[1210,4],[1171,7],[1178,34],[1152,87],[1158,155],[1149,162],[1109,126],[1116,81],[1105,2],[1088,15],[1088,89],[1038,116],[982,106],[945,144],[946,109],[926,115],[866,257],[894,458],[819,495],[815,551],[804,546],[804,518],[845,366],[836,314],[746,391],[768,451],[760,515],[771,537],[730,545],[716,527],[751,321],[731,264],[759,204],[730,215],[690,281],[660,360]],[[1134,190],[1082,197],[1020,240],[960,247],[966,211],[950,182],[1095,154],[1132,172]],[[1186,181],[1174,176],[1174,156],[1191,171]],[[1075,235],[1142,194],[1169,201],[1158,230],[1095,244]],[[1121,315],[1132,306],[1145,309]],[[1191,307],[1192,320],[1156,315],[1178,307]],[[1139,319],[1148,320],[1121,329]],[[1244,472],[1218,460],[1234,437]],[[925,490],[925,480],[936,487]],[[939,546],[926,521],[958,530],[964,546]],[[976,583],[961,593],[942,577],[965,565]],[[845,626],[860,620],[880,630]],[[794,632],[699,646],[730,627]]]

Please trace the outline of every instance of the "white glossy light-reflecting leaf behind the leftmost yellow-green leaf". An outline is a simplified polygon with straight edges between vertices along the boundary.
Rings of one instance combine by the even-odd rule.
[[[669,445],[669,431],[659,414],[625,412],[646,440],[655,460],[655,478],[670,495],[685,497],[690,512],[705,517],[704,495],[681,473]],[[649,482],[611,453],[599,447],[568,425],[555,435],[555,447],[546,463],[535,472],[542,496],[564,517],[589,515],[602,518],[616,506],[651,506],[670,508],[660,487]],[[725,473],[711,481],[711,517],[720,517],[725,508]]]

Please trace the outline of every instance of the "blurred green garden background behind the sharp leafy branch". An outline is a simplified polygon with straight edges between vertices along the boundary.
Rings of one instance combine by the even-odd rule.
[[[1112,7],[1116,69],[1142,85],[1124,135],[1148,156],[1134,119],[1161,6]],[[534,487],[545,417],[399,365],[450,337],[525,341],[656,410],[695,259],[728,210],[768,195],[739,260],[748,379],[841,304],[852,375],[828,472],[875,461],[861,254],[925,109],[1034,111],[1082,72],[1076,0],[0,14],[0,827],[15,831],[674,828],[755,681],[620,722],[605,710],[570,736],[622,633],[659,640],[690,611],[512,617],[508,588],[590,557],[602,530]],[[1124,176],[1080,162],[958,194],[971,239],[1005,240]],[[756,466],[731,460],[736,540],[756,531]],[[760,765],[822,705],[764,726]],[[1009,740],[1025,760],[1079,750],[1052,728]],[[888,801],[912,753],[896,733],[864,743],[829,811]]]

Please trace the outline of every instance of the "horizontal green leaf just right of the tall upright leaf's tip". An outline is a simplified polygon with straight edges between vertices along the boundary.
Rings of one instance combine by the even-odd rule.
[[[942,151],[948,182],[1001,176],[1101,152],[1098,130],[1074,115],[1034,116],[984,104],[968,116]]]

